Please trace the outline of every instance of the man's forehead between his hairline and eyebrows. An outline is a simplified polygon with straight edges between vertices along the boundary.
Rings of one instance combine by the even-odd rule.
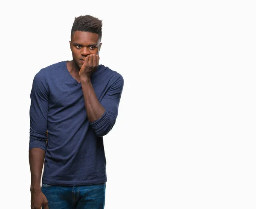
[[[71,37],[72,42],[81,44],[97,44],[99,35],[92,32],[76,31]]]

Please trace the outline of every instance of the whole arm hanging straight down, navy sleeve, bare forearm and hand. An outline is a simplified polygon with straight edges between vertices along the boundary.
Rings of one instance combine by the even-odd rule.
[[[47,141],[48,88],[41,70],[35,75],[30,94],[29,165],[31,173],[31,208],[48,209],[47,198],[41,192],[41,174]]]

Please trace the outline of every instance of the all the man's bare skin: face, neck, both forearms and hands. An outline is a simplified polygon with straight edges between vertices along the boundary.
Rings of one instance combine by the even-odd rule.
[[[91,83],[91,75],[99,66],[99,35],[91,32],[76,31],[70,41],[73,60],[67,62],[67,69],[77,82],[81,83],[84,104],[89,122],[98,120],[105,112],[99,103]],[[41,192],[41,174],[44,164],[45,151],[32,148],[29,151],[31,171],[31,208],[49,209],[46,196]]]

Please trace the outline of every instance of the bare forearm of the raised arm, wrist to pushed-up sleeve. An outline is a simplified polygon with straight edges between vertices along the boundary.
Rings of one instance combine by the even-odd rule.
[[[89,122],[94,122],[104,114],[105,108],[99,103],[90,78],[82,78],[81,86],[84,94],[87,117]]]

